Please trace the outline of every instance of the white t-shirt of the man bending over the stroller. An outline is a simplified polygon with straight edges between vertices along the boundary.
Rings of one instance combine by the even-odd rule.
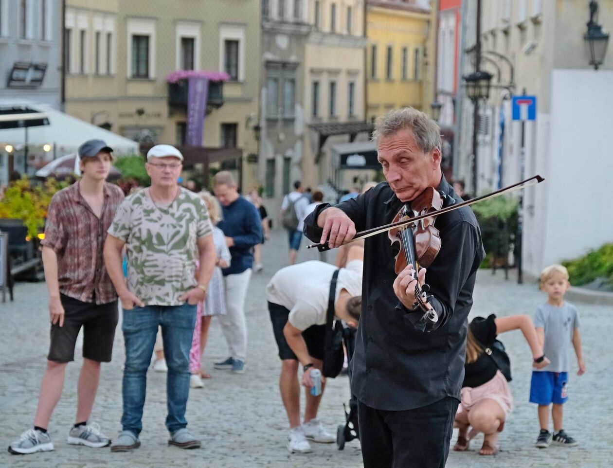
[[[352,260],[338,272],[335,301],[341,290],[362,294],[362,260]],[[321,261],[297,263],[280,269],[266,286],[268,302],[289,310],[289,323],[299,330],[326,323],[330,280],[337,267]]]

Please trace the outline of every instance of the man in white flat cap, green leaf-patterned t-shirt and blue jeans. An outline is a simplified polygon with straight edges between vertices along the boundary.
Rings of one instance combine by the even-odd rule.
[[[151,186],[126,198],[109,228],[104,260],[123,307],[126,345],[123,373],[122,431],[112,451],[140,446],[147,369],[158,326],[162,327],[168,366],[166,427],[169,445],[200,447],[187,429],[189,350],[196,306],[204,301],[215,267],[213,227],[207,208],[195,193],[181,188],[183,155],[170,145],[147,153]],[[121,269],[121,250],[128,253],[128,278]],[[196,260],[200,268],[196,275]]]

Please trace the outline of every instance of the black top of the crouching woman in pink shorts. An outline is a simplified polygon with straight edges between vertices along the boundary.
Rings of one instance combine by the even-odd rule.
[[[487,318],[475,317],[470,323],[470,331],[473,332],[477,341],[485,347],[492,347],[496,340],[496,316],[490,315]],[[474,363],[464,366],[464,383],[463,387],[478,387],[492,380],[498,370],[498,366],[494,360],[481,353]]]

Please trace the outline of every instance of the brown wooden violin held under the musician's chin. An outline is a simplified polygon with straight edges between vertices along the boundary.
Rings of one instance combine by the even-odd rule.
[[[434,227],[435,213],[443,207],[441,194],[433,187],[427,187],[417,198],[405,204],[395,215],[392,224],[398,221],[409,221],[409,224],[398,226],[387,231],[394,251],[394,272],[398,275],[409,264],[413,265],[413,278],[417,279],[420,265],[428,267],[441,250],[441,237],[438,229]],[[431,214],[430,217],[424,215]],[[419,221],[411,223],[411,218],[421,217]],[[438,321],[438,314],[428,302],[430,286],[415,286],[416,302],[413,309],[423,310],[425,320],[431,323]]]

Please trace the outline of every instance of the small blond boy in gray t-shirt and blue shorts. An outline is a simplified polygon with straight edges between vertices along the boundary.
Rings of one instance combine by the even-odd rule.
[[[550,359],[549,366],[532,371],[530,402],[538,404],[538,419],[541,432],[536,447],[546,448],[552,442],[563,447],[578,444],[562,429],[562,405],[568,400],[568,369],[570,347],[573,344],[579,372],[585,372],[579,336],[579,314],[574,305],[564,301],[570,287],[568,270],[562,265],[550,265],[541,273],[541,290],[547,293],[547,302],[536,309],[536,334],[544,344],[544,354]],[[551,416],[554,434],[549,432],[549,404],[553,404]]]

